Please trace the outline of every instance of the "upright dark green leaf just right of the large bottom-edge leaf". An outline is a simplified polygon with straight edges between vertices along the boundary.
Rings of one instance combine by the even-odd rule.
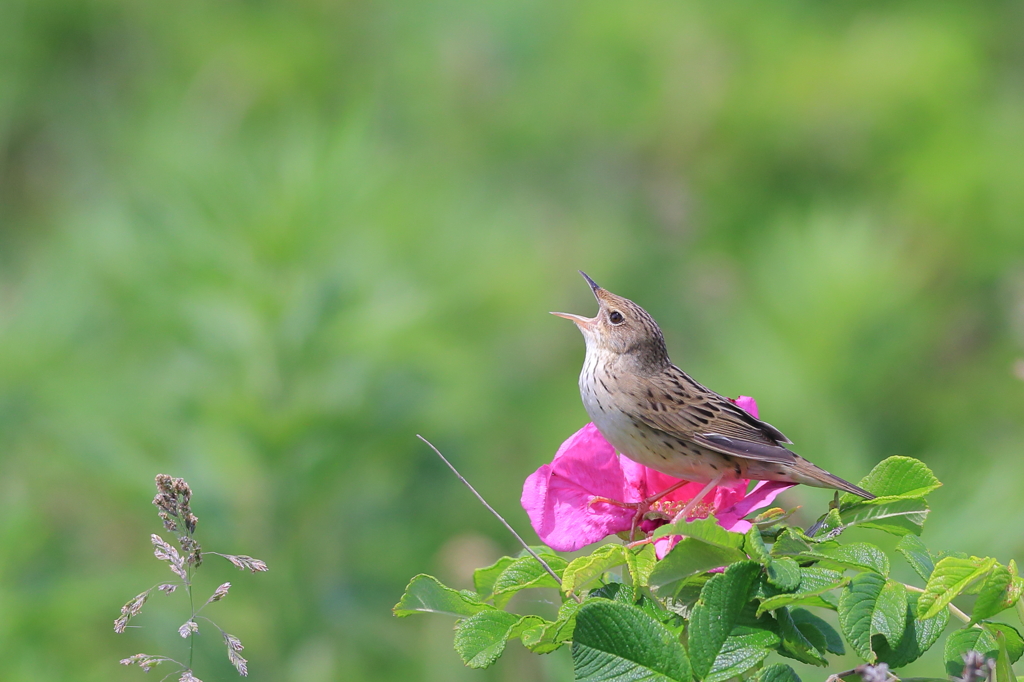
[[[700,591],[690,615],[689,647],[693,672],[707,677],[722,645],[732,632],[750,600],[754,582],[761,572],[755,561],[739,561],[713,576]]]

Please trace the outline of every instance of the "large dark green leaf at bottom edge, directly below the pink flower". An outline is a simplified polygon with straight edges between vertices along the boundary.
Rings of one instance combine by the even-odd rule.
[[[689,682],[686,651],[636,606],[592,599],[577,613],[572,667],[578,682]]]

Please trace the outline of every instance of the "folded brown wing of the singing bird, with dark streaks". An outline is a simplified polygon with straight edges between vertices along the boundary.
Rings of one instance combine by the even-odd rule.
[[[634,400],[633,418],[724,455],[779,463],[797,459],[780,444],[792,442],[781,431],[705,388],[678,368],[673,370],[658,386],[660,391],[650,388]]]

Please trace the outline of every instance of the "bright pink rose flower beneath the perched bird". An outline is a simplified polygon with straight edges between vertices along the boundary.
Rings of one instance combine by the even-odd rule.
[[[757,417],[754,398],[740,396],[736,404]],[[615,455],[597,427],[587,424],[573,433],[545,464],[530,474],[522,488],[522,506],[544,544],[570,552],[633,528],[636,511],[601,500],[639,503],[678,483],[673,478],[632,460]],[[767,506],[793,483],[760,481],[748,493],[749,479],[724,483],[710,492],[692,510],[690,519],[714,515],[726,530],[746,532],[743,517]],[[651,505],[663,519],[644,518],[639,529],[652,532],[668,522],[703,488],[703,483],[681,485]],[[679,542],[679,536],[655,542],[660,559]]]

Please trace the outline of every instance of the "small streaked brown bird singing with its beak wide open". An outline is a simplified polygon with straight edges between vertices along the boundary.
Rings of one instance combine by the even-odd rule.
[[[587,341],[580,394],[601,435],[621,454],[662,473],[707,482],[677,519],[723,480],[754,478],[874,496],[783,445],[771,424],[693,381],[672,364],[657,323],[639,305],[590,284],[594,317],[553,312],[575,323]]]

